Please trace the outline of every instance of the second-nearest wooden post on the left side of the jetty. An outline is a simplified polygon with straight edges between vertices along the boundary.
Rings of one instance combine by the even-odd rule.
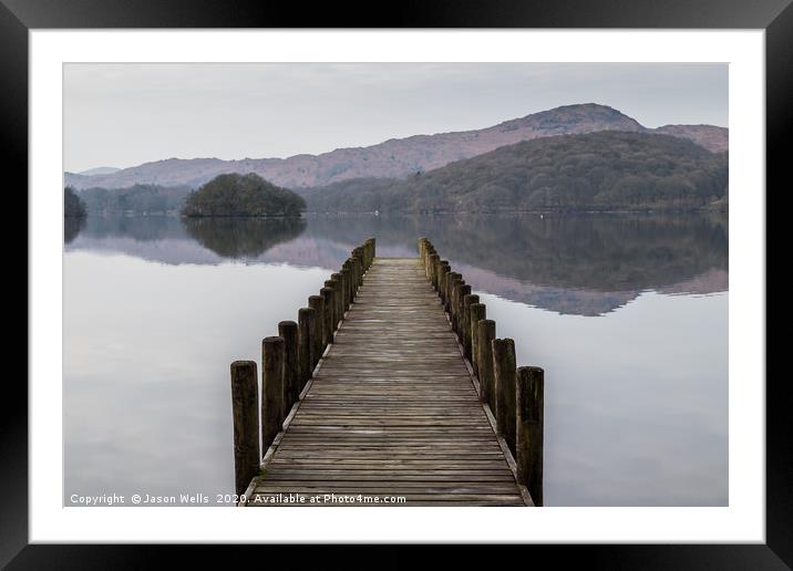
[[[261,449],[284,424],[284,338],[261,341]]]

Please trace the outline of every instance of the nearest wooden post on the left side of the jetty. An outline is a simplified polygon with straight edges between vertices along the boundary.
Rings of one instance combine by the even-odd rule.
[[[259,473],[259,393],[255,361],[231,363],[234,415],[234,489],[245,494]]]

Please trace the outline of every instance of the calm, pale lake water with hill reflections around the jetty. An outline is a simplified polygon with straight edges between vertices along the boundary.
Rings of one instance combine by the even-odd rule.
[[[64,505],[231,492],[229,363],[370,236],[429,237],[545,368],[546,505],[728,505],[728,225],[682,215],[69,225]]]

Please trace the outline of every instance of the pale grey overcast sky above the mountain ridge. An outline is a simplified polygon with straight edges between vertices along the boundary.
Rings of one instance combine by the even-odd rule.
[[[261,158],[483,128],[574,103],[728,125],[727,64],[65,64],[64,168]]]

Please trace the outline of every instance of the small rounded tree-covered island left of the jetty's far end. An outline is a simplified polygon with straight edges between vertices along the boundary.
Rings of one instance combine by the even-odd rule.
[[[182,208],[187,218],[204,217],[299,217],[306,200],[259,175],[218,175],[190,194]]]

